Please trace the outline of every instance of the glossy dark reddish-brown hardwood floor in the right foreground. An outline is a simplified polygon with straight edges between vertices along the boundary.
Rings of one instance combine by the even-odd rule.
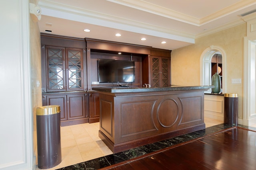
[[[256,131],[224,129],[102,170],[256,170]]]

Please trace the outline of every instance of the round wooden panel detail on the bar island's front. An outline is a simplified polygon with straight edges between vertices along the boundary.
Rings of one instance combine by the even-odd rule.
[[[178,104],[175,100],[163,100],[157,109],[158,122],[162,127],[171,127],[178,120],[178,113]]]

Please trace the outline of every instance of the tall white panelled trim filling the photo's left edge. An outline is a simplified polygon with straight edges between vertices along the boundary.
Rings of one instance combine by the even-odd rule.
[[[5,129],[2,129],[1,133],[0,169],[32,170],[33,164],[36,164],[33,162],[33,115],[35,114],[33,102],[35,101],[32,101],[29,1],[12,0],[6,1],[4,5],[5,8],[1,9],[2,16],[12,16],[12,19],[2,20],[6,21],[4,28],[10,29],[6,29],[1,34],[2,41],[6,42],[1,54],[12,51],[12,57],[1,59],[9,67],[2,64],[1,69],[7,68],[6,72],[17,74],[12,75],[11,78],[7,74],[1,76],[3,80],[12,80],[12,83],[8,87],[4,86],[1,92],[4,99],[1,106],[1,112],[4,113],[1,116],[3,120],[1,127]],[[6,41],[10,39],[16,41]],[[12,63],[12,67],[7,63]]]

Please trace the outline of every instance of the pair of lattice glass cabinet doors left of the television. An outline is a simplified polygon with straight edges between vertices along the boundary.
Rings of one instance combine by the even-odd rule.
[[[48,92],[83,90],[83,50],[46,46]]]

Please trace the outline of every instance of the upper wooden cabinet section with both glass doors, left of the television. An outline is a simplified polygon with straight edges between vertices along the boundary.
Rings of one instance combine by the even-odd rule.
[[[85,43],[80,44],[76,39],[77,42],[71,39],[55,39],[55,37],[41,37],[41,39],[43,42],[41,44],[44,44],[42,45],[42,92],[86,90]],[[77,48],[79,46],[82,48]]]

